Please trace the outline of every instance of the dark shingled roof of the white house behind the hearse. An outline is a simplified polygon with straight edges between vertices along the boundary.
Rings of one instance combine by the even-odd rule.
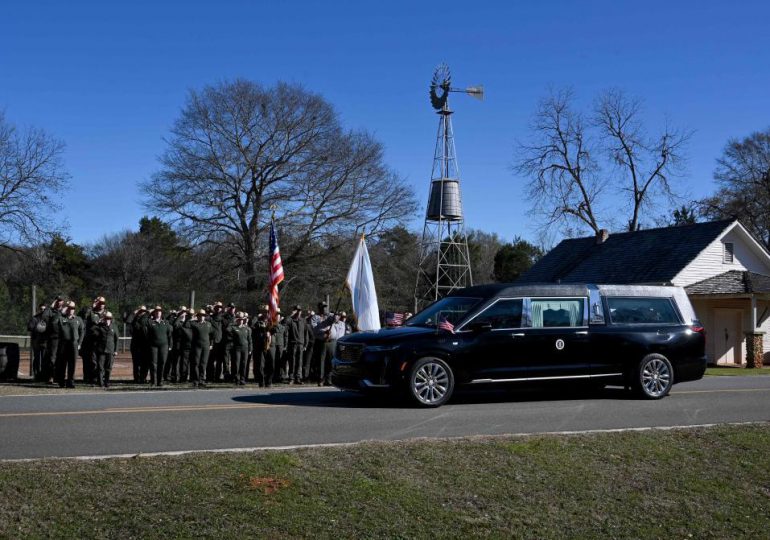
[[[563,240],[518,282],[670,283],[734,220]]]

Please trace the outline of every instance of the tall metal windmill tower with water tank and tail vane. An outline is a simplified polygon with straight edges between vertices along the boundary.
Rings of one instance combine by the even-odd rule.
[[[481,85],[452,88],[446,64],[439,65],[434,71],[430,84],[430,102],[439,115],[439,124],[428,208],[420,243],[414,292],[416,311],[443,298],[454,289],[473,285],[460,198],[460,169],[455,156],[452,111],[449,109],[450,92],[462,92],[476,99],[484,99],[484,88]]]

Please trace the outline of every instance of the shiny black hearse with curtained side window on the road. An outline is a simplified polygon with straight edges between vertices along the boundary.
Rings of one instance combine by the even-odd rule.
[[[494,284],[456,290],[400,328],[340,339],[332,383],[427,407],[458,386],[530,381],[660,399],[705,369],[703,326],[681,287]]]

